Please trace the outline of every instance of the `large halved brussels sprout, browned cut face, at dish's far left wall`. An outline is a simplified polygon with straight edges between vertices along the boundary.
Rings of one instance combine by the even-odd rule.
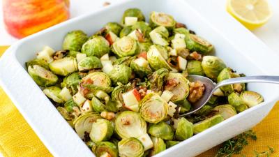
[[[28,73],[40,87],[50,87],[58,82],[54,73],[38,65],[29,66]]]

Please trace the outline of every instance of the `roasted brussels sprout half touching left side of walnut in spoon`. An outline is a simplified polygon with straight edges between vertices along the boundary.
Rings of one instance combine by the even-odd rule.
[[[189,81],[181,75],[181,73],[169,73],[167,76],[167,85],[165,89],[172,91],[171,101],[174,103],[180,103],[181,101],[185,100],[185,98],[189,94]],[[172,87],[172,84],[169,82],[176,82],[176,86]]]

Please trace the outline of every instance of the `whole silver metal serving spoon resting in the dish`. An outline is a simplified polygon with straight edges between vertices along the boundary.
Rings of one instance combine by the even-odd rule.
[[[272,83],[272,84],[279,84],[279,76],[246,76],[246,77],[236,77],[231,78],[228,80],[223,80],[222,82],[219,82],[218,84],[214,83],[212,80],[210,80],[207,77],[199,76],[199,75],[188,75],[188,80],[190,82],[195,82],[199,80],[204,84],[204,95],[202,98],[197,100],[197,102],[191,104],[193,106],[193,110],[191,112],[188,112],[186,114],[181,114],[179,117],[184,117],[189,114],[193,114],[197,112],[199,109],[201,109],[211,98],[213,95],[213,92],[216,91],[216,89],[223,87],[228,84],[237,84],[237,83],[248,83],[248,82],[262,82],[262,83]]]

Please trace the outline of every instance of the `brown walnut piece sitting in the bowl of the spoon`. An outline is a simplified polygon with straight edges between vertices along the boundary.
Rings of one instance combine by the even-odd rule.
[[[195,103],[197,100],[202,98],[202,95],[204,94],[204,84],[200,81],[196,82],[190,82],[190,94],[188,96],[188,100],[191,103]]]

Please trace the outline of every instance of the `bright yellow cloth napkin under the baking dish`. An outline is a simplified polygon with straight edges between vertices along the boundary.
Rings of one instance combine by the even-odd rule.
[[[8,47],[0,47],[0,56]],[[272,156],[279,156],[279,102],[269,116],[253,128],[258,140],[250,141],[243,154],[246,157],[255,156],[254,150],[261,152],[275,149]],[[52,156],[38,136],[33,132],[22,114],[17,110],[8,96],[0,87],[0,151],[3,156],[33,157]],[[197,157],[215,156],[217,147],[200,154]],[[237,155],[239,156],[239,155]]]

